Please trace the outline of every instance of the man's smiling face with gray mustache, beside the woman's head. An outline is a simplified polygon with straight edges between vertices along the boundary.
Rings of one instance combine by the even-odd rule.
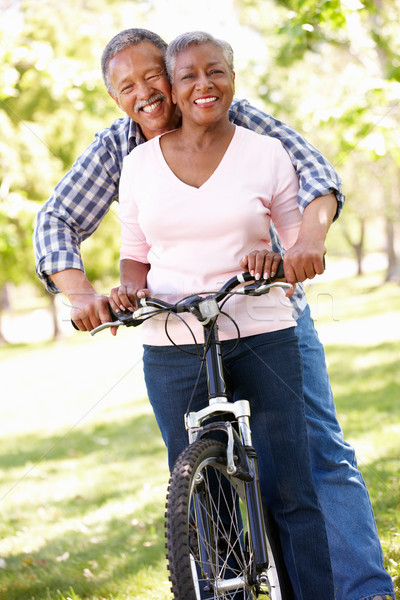
[[[178,114],[159,48],[146,41],[121,50],[110,60],[108,75],[115,92],[110,96],[146,139],[175,129]]]

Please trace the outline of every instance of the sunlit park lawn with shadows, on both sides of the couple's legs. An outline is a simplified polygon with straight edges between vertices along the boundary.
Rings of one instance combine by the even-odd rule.
[[[400,599],[400,289],[381,278],[321,281],[309,298]],[[170,600],[166,451],[137,332],[0,357],[1,600]]]

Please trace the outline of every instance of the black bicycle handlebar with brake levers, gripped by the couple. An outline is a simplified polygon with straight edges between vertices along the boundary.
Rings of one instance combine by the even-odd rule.
[[[147,308],[155,308],[153,314],[157,312],[169,312],[169,313],[192,313],[201,323],[208,323],[211,319],[215,318],[219,313],[218,302],[228,296],[236,287],[253,282],[251,285],[245,285],[239,290],[234,292],[235,294],[244,294],[249,296],[261,296],[268,293],[273,287],[290,288],[290,283],[283,281],[277,282],[278,279],[284,279],[285,273],[283,268],[283,261],[278,265],[277,272],[273,277],[268,279],[255,280],[250,273],[240,273],[229,279],[217,292],[207,294],[202,297],[199,294],[192,294],[182,301],[176,304],[169,304],[164,300],[158,298],[137,298],[138,309],[133,313],[130,311],[114,311],[109,306],[112,321],[102,323],[98,327],[95,327],[90,332],[91,335],[95,335],[103,329],[110,327],[119,327],[125,325],[125,327],[137,327],[141,325],[146,318],[152,316],[149,311],[146,312]],[[75,329],[78,329],[76,324],[71,320],[71,323]]]

